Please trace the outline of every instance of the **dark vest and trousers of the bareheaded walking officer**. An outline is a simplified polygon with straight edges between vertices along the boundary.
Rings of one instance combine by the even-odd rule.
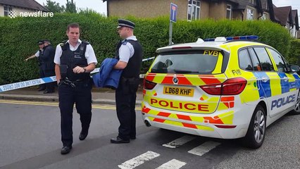
[[[86,67],[85,50],[88,42],[82,41],[75,51],[69,43],[61,44],[61,81],[58,84],[59,108],[61,109],[61,141],[63,146],[73,144],[73,106],[80,114],[82,132],[87,133],[92,118],[92,80],[89,73],[73,73],[77,65]]]

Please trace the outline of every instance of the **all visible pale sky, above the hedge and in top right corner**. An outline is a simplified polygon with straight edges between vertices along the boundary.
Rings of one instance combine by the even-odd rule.
[[[39,4],[46,4],[46,0],[35,0]],[[66,0],[51,0],[56,1],[60,5],[65,6]],[[70,1],[70,0],[69,0]],[[102,0],[73,0],[77,8],[92,8],[94,11],[106,14],[106,2],[103,3]],[[300,1],[299,0],[273,0],[275,6],[292,6],[292,9],[298,10],[298,15],[300,17]]]

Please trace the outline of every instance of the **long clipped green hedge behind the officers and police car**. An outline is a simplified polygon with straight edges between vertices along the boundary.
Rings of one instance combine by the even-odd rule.
[[[144,58],[156,56],[156,49],[168,45],[168,17],[141,19],[128,17],[136,23],[135,35],[144,48]],[[67,39],[66,26],[80,23],[80,39],[94,47],[99,64],[106,57],[113,57],[115,44],[120,40],[116,27],[118,18],[106,18],[97,13],[55,13],[53,18],[7,18],[0,17],[0,84],[20,82],[39,77],[37,61],[24,61],[35,54],[39,39],[49,39],[56,46]],[[196,42],[196,39],[218,36],[258,35],[260,41],[275,47],[287,56],[290,37],[287,30],[270,21],[241,20],[183,20],[173,24],[173,42]],[[144,62],[142,72],[151,61]]]

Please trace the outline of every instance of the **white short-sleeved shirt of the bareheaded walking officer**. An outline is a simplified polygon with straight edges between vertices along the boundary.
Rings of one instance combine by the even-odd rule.
[[[69,41],[67,41],[67,42],[69,42]],[[77,45],[75,47],[72,46],[71,44],[69,44],[70,50],[71,51],[76,51],[78,46],[81,44],[81,42],[82,41],[80,39],[78,39]],[[56,63],[58,65],[61,64],[61,54],[63,54],[63,49],[61,49],[61,45],[58,44],[56,46],[56,51],[55,51],[55,56],[54,56],[54,63]],[[90,63],[95,63],[95,65],[96,65],[98,63],[98,61],[96,59],[94,49],[93,49],[91,44],[87,44],[87,49],[85,50],[85,58],[87,58],[87,64],[88,65]]]

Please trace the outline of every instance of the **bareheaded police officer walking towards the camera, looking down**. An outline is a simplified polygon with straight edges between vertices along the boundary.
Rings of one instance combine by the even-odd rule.
[[[61,109],[61,154],[68,154],[72,149],[74,104],[82,126],[79,139],[84,140],[89,132],[92,118],[92,80],[89,73],[97,63],[92,45],[79,39],[80,27],[77,23],[70,23],[66,34],[68,41],[56,46],[54,58]]]

